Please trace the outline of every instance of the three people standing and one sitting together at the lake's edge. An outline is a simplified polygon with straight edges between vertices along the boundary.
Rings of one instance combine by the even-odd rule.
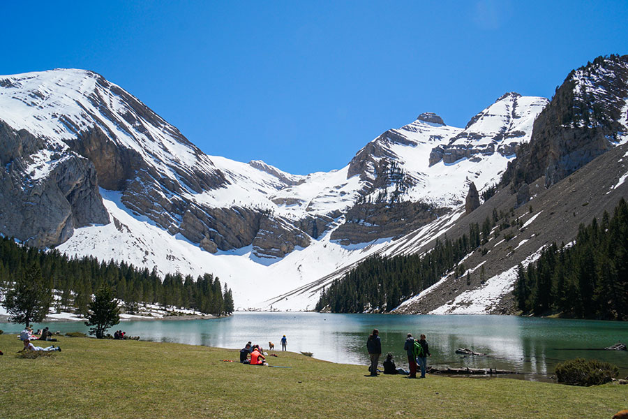
[[[408,333],[408,339],[405,339],[403,349],[408,355],[410,372],[406,372],[402,368],[396,368],[395,362],[392,359],[393,355],[389,353],[384,361],[384,374],[405,374],[408,375],[408,378],[417,378],[418,365],[421,367],[420,378],[425,378],[427,357],[432,356],[425,335],[421,334],[419,340],[416,340],[412,337],[412,333]],[[380,340],[379,330],[373,329],[373,333],[368,336],[366,340],[366,350],[371,357],[371,366],[368,367],[368,371],[371,372],[371,376],[377,376],[377,362],[380,359],[380,355],[382,355],[382,341]]]

